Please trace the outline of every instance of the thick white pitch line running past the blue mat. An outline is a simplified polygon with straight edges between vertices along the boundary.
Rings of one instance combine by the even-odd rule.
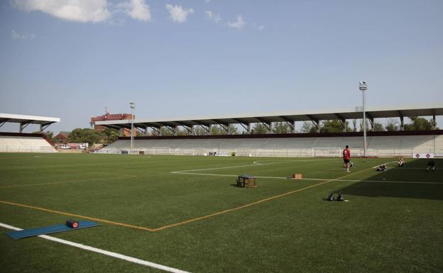
[[[12,225],[6,225],[4,223],[0,223],[0,226],[3,227],[3,228],[11,229],[11,230],[22,230],[21,228],[16,228],[16,227],[13,227]],[[137,258],[134,258],[134,257],[122,255],[122,254],[119,254],[119,253],[116,253],[116,252],[111,252],[111,251],[107,251],[107,250],[101,250],[101,249],[96,248],[96,247],[89,247],[88,245],[82,245],[82,244],[79,244],[79,243],[74,243],[74,242],[71,242],[71,241],[68,241],[68,240],[62,240],[62,239],[55,238],[55,237],[48,236],[48,235],[38,235],[38,237],[46,239],[46,240],[50,240],[50,241],[53,241],[53,242],[56,242],[56,243],[61,243],[61,244],[64,244],[64,245],[70,245],[72,247],[81,248],[82,250],[89,250],[89,251],[92,251],[92,252],[97,252],[97,253],[102,254],[102,255],[114,257],[114,258],[117,258],[117,259],[120,259],[120,260],[125,260],[125,261],[128,261],[128,262],[133,262],[135,264],[141,264],[141,265],[145,265],[147,267],[153,267],[153,268],[160,269],[160,270],[163,270],[163,271],[166,271],[166,272],[190,273],[190,272],[183,271],[183,270],[180,270],[180,269],[176,269],[176,268],[173,268],[173,267],[167,267],[167,266],[162,265],[162,264],[155,264],[154,262],[148,262],[148,261],[145,261],[145,260],[140,260],[140,259],[137,259]]]

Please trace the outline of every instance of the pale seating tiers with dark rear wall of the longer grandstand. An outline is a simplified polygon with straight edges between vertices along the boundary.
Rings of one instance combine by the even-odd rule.
[[[412,132],[374,132],[368,135],[366,154],[373,157],[413,157],[416,153],[443,153],[443,130]],[[138,137],[133,153],[148,155],[230,155],[271,157],[340,157],[345,145],[356,157],[363,156],[362,133],[225,135],[187,137]],[[99,152],[120,153],[130,150],[131,140],[119,138]]]

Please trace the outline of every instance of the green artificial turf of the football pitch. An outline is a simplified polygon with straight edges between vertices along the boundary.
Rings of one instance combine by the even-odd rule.
[[[339,158],[0,154],[0,201],[151,229],[226,211],[154,232],[100,222],[53,235],[189,272],[442,272],[443,170],[352,161],[346,173]],[[308,179],[286,179],[295,173]],[[258,187],[237,187],[239,174]],[[339,191],[348,202],[324,201]],[[18,228],[67,218],[0,203],[0,223]],[[0,231],[1,272],[160,272]]]

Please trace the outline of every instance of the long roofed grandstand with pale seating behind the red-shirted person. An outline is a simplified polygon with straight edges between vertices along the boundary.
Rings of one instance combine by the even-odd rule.
[[[404,116],[435,116],[443,115],[441,105],[427,107],[372,108],[366,111],[371,131],[368,132],[366,155],[373,157],[413,157],[417,153],[443,154],[443,130],[404,131]],[[345,145],[351,147],[354,156],[363,156],[363,133],[346,132],[346,120],[363,116],[360,108],[343,109],[341,111],[310,111],[300,113],[270,113],[267,115],[204,117],[155,120],[134,120],[133,125],[146,134],[148,128],[160,133],[157,137],[136,137],[133,140],[132,152],[143,152],[150,155],[231,155],[235,152],[241,156],[273,156],[273,157],[339,157]],[[400,118],[400,131],[375,132],[375,118]],[[295,122],[312,121],[318,128],[322,120],[339,120],[344,127],[343,133],[295,133]],[[285,122],[292,133],[272,134],[273,122]],[[268,134],[251,135],[251,123],[262,123],[268,128]],[[131,128],[131,121],[101,121],[97,124],[121,130]],[[219,125],[229,133],[231,124],[243,126],[244,135],[192,135],[195,126],[205,128]],[[191,135],[161,136],[161,128],[177,132],[179,127],[187,129]],[[115,143],[99,152],[119,153],[131,150],[131,140],[121,137]]]

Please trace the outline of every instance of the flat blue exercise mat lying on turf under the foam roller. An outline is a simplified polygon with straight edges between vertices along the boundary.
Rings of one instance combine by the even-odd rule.
[[[78,223],[79,223],[78,228],[70,228],[65,224],[51,225],[51,226],[43,227],[43,228],[28,228],[26,230],[11,231],[9,233],[6,233],[6,235],[13,238],[14,240],[17,240],[17,239],[21,239],[21,238],[38,236],[38,235],[43,235],[43,234],[62,233],[65,231],[78,230],[81,228],[92,228],[94,226],[99,225],[99,224],[92,222],[92,221],[79,221]]]

